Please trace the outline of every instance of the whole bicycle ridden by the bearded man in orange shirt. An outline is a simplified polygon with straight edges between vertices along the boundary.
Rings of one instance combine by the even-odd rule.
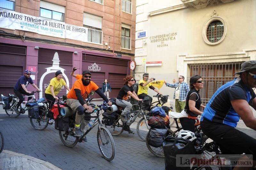
[[[102,110],[102,105],[98,105],[93,107],[94,112],[96,111],[96,116],[90,116],[94,119],[94,123],[92,127],[87,129],[81,137],[77,137],[74,133],[75,128],[75,115],[69,117],[69,129],[68,131],[59,131],[60,140],[62,143],[67,147],[74,147],[77,142],[83,142],[85,136],[98,124],[98,131],[97,131],[97,142],[100,149],[102,156],[111,161],[115,157],[115,143],[113,137],[111,136],[110,132],[107,128],[104,127],[102,122],[100,121],[100,115]],[[88,117],[86,117],[88,118]],[[110,153],[108,153],[110,152]]]

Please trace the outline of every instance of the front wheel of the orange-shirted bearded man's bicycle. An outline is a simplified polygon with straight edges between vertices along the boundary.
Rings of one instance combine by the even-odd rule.
[[[100,127],[97,132],[97,142],[102,156],[111,161],[115,157],[115,143],[107,128]]]

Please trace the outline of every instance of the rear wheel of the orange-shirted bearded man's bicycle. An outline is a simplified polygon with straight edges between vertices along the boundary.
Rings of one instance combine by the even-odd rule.
[[[69,128],[66,132],[59,131],[59,135],[60,140],[65,146],[69,148],[76,146],[78,142],[78,137],[76,137],[76,135],[73,133],[73,128]]]

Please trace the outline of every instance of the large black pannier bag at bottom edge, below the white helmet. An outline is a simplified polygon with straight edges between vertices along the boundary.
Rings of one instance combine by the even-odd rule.
[[[165,169],[169,170],[190,170],[190,167],[177,167],[176,155],[195,154],[194,144],[183,138],[167,136],[163,142]],[[178,160],[180,160],[178,158]]]

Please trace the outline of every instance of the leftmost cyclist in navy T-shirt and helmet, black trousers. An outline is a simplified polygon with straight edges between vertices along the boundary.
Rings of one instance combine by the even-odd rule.
[[[28,91],[27,86],[30,83],[33,87],[35,87],[38,91],[41,92],[41,90],[34,84],[32,78],[30,77],[31,71],[25,70],[24,76],[21,76],[16,85],[13,87],[13,92],[17,95],[19,98],[19,102],[17,104],[17,107],[14,109],[16,113],[18,113],[18,108],[20,107],[20,104],[24,101],[22,94],[25,94],[29,96],[31,94],[30,91]],[[28,100],[30,100],[32,97],[28,97]]]

